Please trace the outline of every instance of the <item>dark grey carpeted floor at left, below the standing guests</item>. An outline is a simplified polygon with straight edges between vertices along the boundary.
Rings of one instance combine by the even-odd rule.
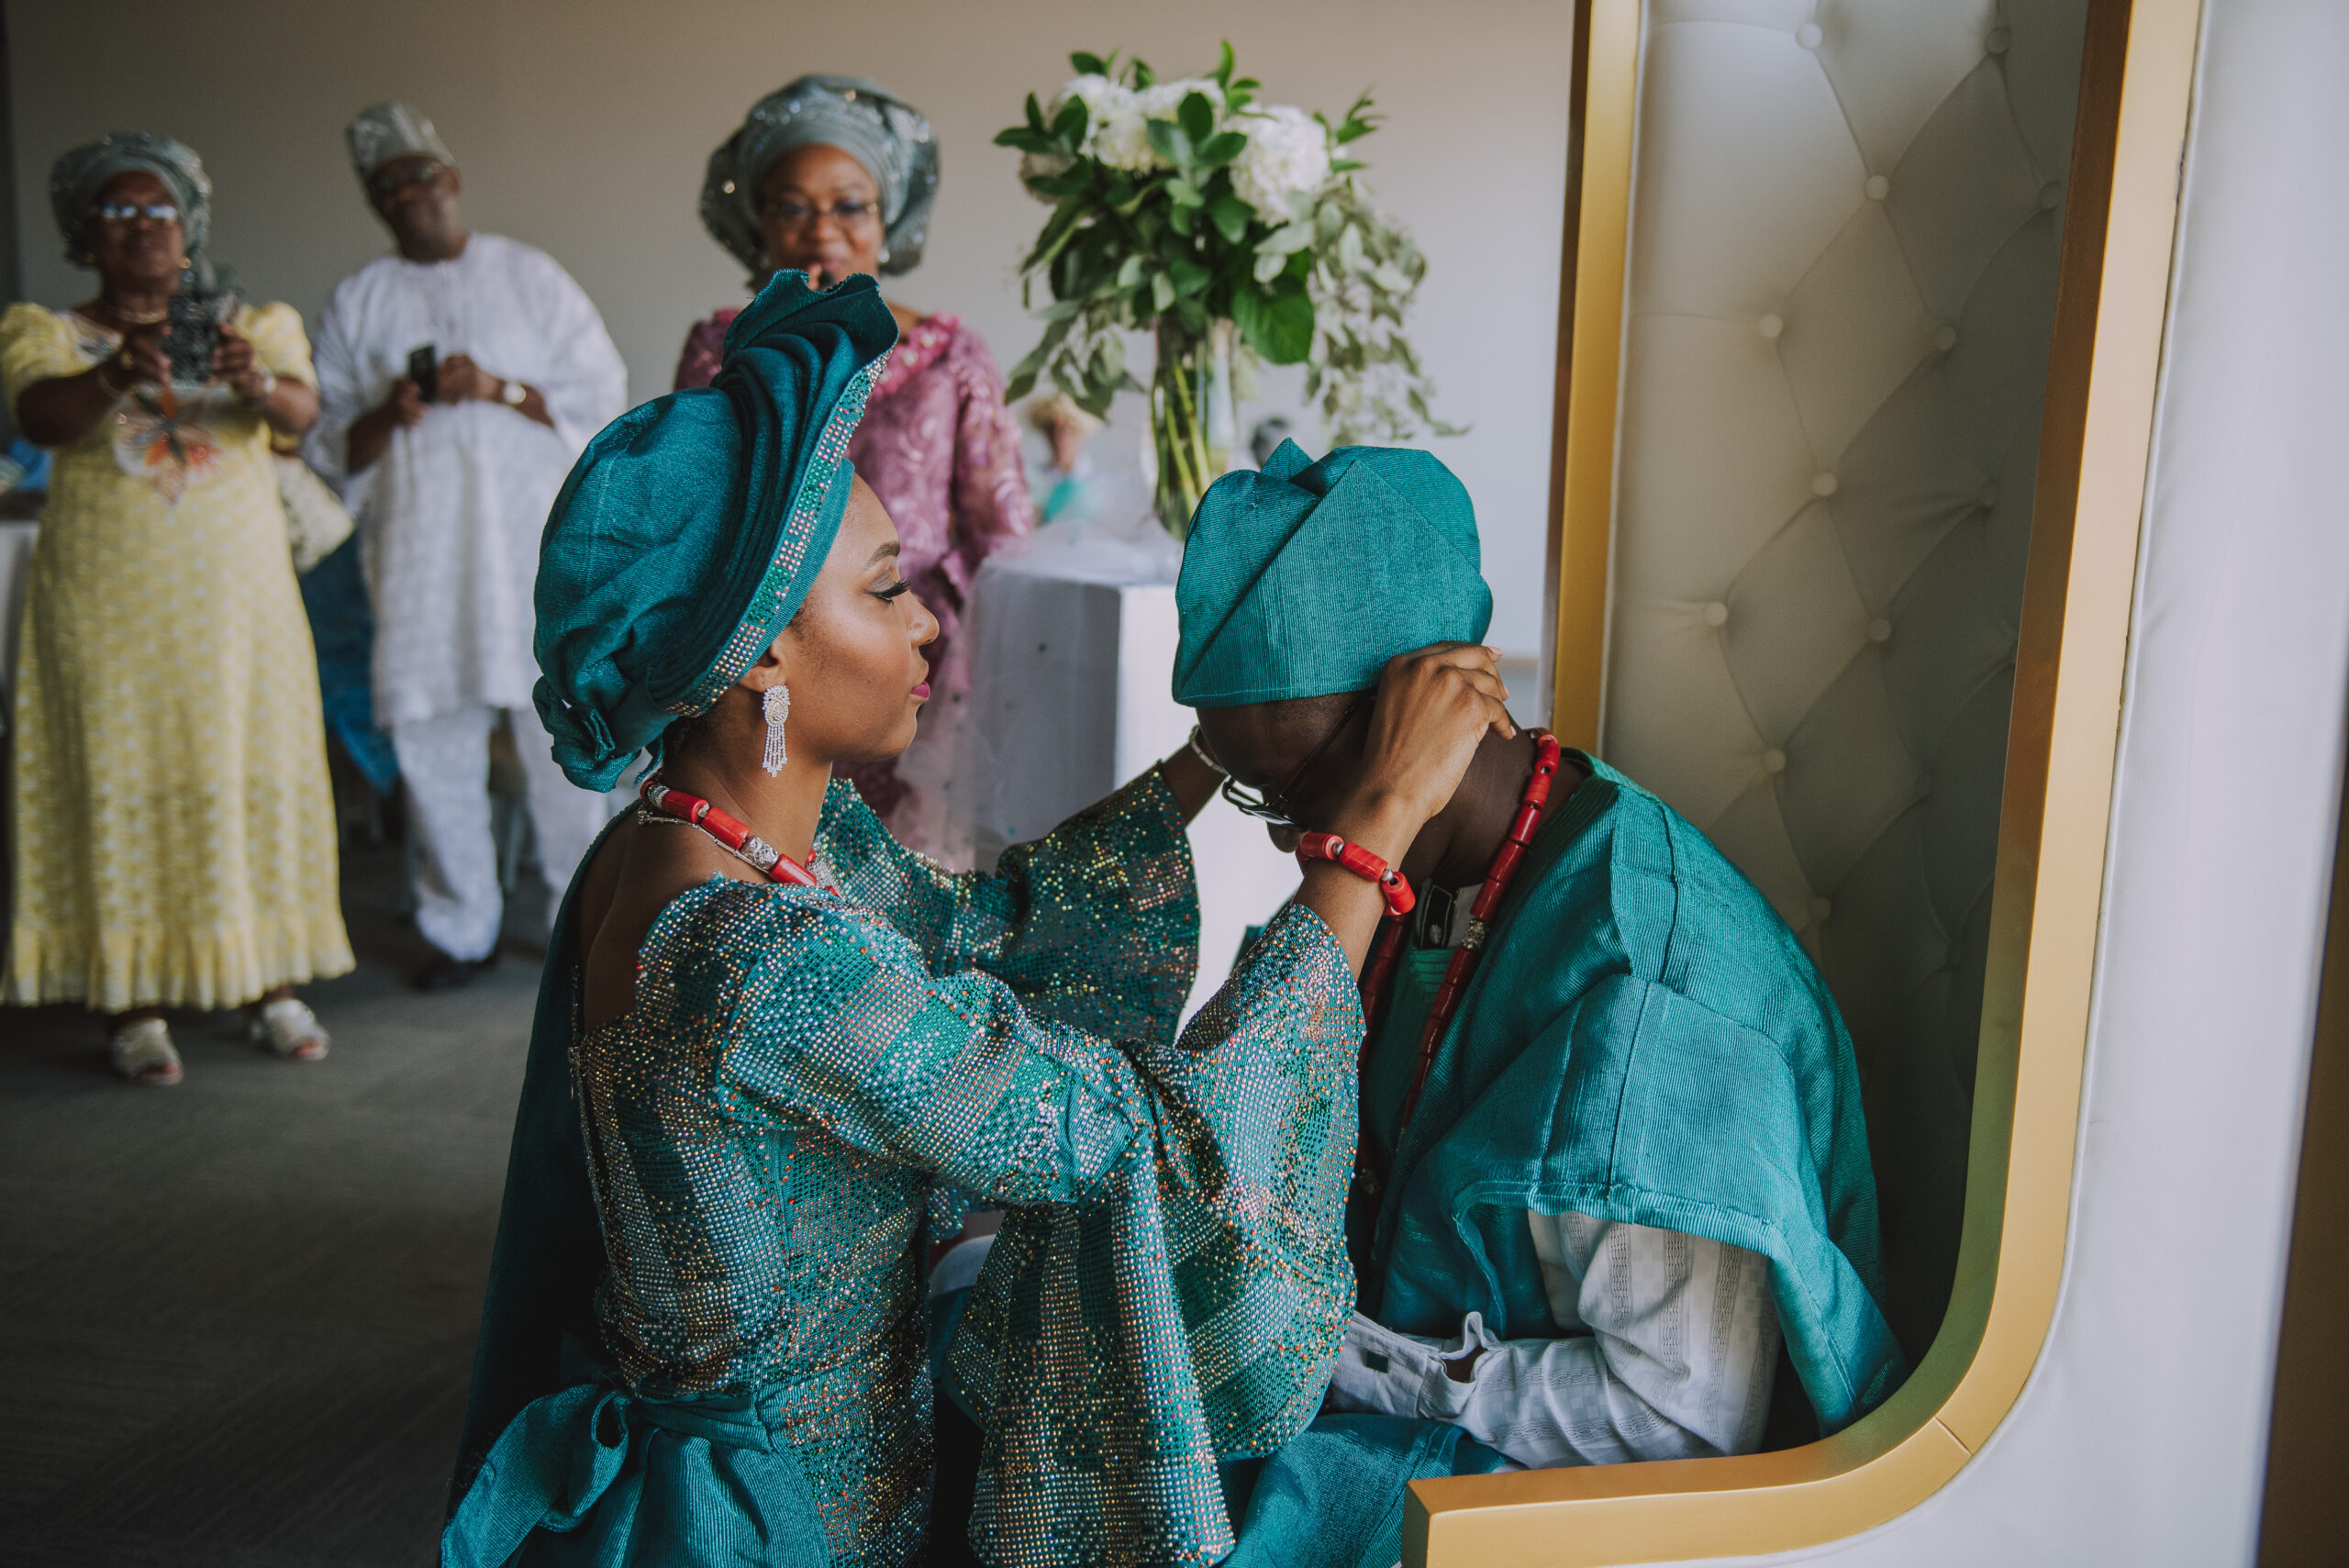
[[[87,1012],[0,1009],[0,1563],[435,1561],[538,960],[409,991],[390,850],[345,913],[322,1063],[176,1014],[143,1089]]]

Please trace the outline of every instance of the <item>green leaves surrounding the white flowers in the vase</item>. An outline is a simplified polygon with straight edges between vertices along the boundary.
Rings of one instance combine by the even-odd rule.
[[[1118,52],[1076,52],[1069,63],[1137,94],[1158,82],[1139,59],[1120,66]],[[1362,164],[1339,157],[1379,129],[1369,94],[1337,124],[1313,117],[1330,138],[1330,178],[1294,195],[1276,225],[1238,195],[1231,169],[1247,153],[1259,82],[1236,75],[1229,42],[1205,80],[1214,94],[1189,92],[1172,117],[1144,124],[1163,167],[1118,169],[1088,150],[1097,127],[1073,92],[1050,120],[1029,94],[1022,122],[996,136],[1024,155],[1029,192],[1052,204],[1019,263],[1022,300],[1045,331],[1012,366],[1010,397],[1050,378],[1106,415],[1118,392],[1142,390],[1123,333],[1203,340],[1210,322],[1229,319],[1243,345],[1240,376],[1245,354],[1306,364],[1306,392],[1320,401],[1332,444],[1456,434],[1428,413],[1433,387],[1402,338],[1426,261],[1372,207],[1355,178]]]

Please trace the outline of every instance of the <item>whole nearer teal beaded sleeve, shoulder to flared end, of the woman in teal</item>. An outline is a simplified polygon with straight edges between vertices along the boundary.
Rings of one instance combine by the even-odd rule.
[[[1362,1021],[1330,930],[1287,908],[1179,1042],[1149,1045],[1045,1021],[984,969],[935,974],[822,892],[702,897],[695,948],[740,981],[679,981],[723,1009],[733,1113],[1012,1209],[951,1364],[989,1432],[972,1537],[1019,1566],[1224,1556],[1217,1460],[1311,1420],[1353,1305]]]

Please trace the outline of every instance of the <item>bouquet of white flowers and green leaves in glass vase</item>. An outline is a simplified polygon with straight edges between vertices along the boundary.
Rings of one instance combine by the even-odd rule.
[[[996,136],[1052,204],[1022,263],[1027,303],[1038,279],[1050,303],[1043,340],[1012,369],[1015,399],[1050,376],[1106,415],[1116,392],[1142,390],[1123,333],[1156,331],[1156,500],[1177,535],[1229,458],[1233,354],[1304,361],[1332,444],[1456,434],[1428,411],[1402,336],[1426,258],[1344,157],[1377,129],[1369,94],[1337,124],[1257,103],[1229,42],[1212,75],[1172,82],[1116,54],[1069,63],[1078,75],[1050,106],[1029,94],[1024,124]]]

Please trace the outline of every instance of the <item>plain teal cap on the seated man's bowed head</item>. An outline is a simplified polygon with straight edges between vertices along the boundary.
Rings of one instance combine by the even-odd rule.
[[[1306,462],[1283,441],[1198,502],[1174,613],[1184,707],[1369,690],[1398,653],[1485,638],[1475,507],[1423,451],[1339,446]]]

